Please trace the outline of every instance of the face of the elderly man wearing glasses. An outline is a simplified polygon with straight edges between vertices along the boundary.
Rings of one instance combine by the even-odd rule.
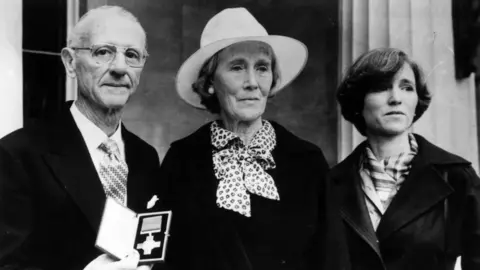
[[[90,38],[78,47],[109,44],[137,48],[145,52],[145,35],[141,26],[127,18],[99,18],[88,26]],[[97,51],[102,56],[106,51]],[[78,80],[78,99],[86,99],[101,109],[121,109],[136,91],[143,66],[131,67],[126,58],[130,51],[119,49],[111,62],[101,63],[89,50],[77,50],[75,73]]]

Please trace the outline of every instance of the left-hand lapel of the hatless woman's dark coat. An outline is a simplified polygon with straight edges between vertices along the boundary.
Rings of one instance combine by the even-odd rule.
[[[368,245],[370,245],[381,259],[377,237],[373,230],[365,195],[361,188],[361,178],[358,173],[358,160],[362,145],[343,161],[332,173],[336,194],[339,196],[340,215],[345,222],[355,231]]]

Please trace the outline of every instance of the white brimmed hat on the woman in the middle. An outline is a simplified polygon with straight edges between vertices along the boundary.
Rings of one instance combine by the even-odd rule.
[[[293,81],[307,62],[308,50],[302,42],[290,37],[268,35],[267,30],[245,8],[225,9],[208,21],[200,38],[200,49],[178,70],[176,88],[180,97],[194,107],[205,109],[200,96],[192,89],[200,69],[218,51],[242,41],[262,41],[272,47],[280,78],[271,95]]]

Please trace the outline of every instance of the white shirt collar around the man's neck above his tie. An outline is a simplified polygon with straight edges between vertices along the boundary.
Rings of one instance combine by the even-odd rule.
[[[70,112],[72,113],[73,119],[75,120],[90,153],[95,151],[102,142],[109,138],[107,134],[78,110],[75,102],[70,107]],[[114,140],[118,145],[123,145],[121,125],[122,122],[120,121],[117,130],[112,136],[110,136],[110,139]],[[120,151],[120,153],[122,153],[122,151]]]

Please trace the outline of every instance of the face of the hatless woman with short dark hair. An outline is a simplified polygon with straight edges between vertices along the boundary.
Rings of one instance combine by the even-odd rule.
[[[390,84],[365,95],[362,114],[367,136],[403,134],[412,125],[417,103],[415,76],[405,63]]]

